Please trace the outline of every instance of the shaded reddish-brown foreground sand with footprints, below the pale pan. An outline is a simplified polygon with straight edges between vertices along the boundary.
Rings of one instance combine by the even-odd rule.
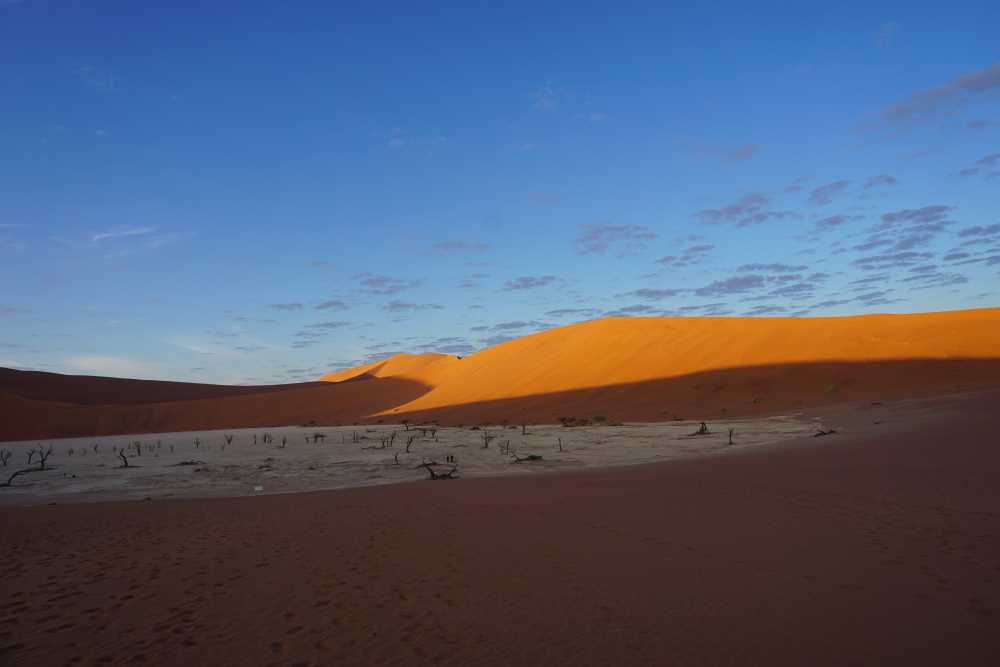
[[[544,478],[0,510],[0,664],[1000,664],[1000,390]]]

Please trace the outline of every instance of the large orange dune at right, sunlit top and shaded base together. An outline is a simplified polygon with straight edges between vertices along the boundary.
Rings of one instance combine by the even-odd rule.
[[[661,411],[691,403],[690,395],[659,400],[653,390],[666,389],[667,380],[675,380],[674,389],[700,391],[693,403],[708,412],[727,406],[745,411],[748,402],[783,406],[803,392],[830,395],[826,401],[813,396],[809,402],[816,404],[868,390],[997,381],[995,364],[986,360],[1000,360],[1000,309],[808,319],[609,318],[526,336],[451,363],[440,355],[422,358],[425,374],[412,358],[386,363],[398,363],[405,377],[433,387],[392,413],[446,411],[461,418],[462,412],[481,415],[473,406],[505,402],[514,412],[523,408],[528,416],[551,420],[581,414],[576,401],[566,400],[571,392],[577,398],[597,393],[602,399],[595,408],[619,418],[653,418],[639,407],[645,399],[654,399]],[[739,386],[730,386],[737,377]],[[522,400],[514,406],[511,399]]]

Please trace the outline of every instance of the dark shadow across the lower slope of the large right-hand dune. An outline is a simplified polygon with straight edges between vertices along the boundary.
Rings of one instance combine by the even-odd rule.
[[[720,368],[672,378],[370,415],[395,420],[557,423],[562,418],[665,421],[770,414],[858,400],[1000,384],[1000,359],[907,359]],[[433,395],[427,398],[432,398]]]

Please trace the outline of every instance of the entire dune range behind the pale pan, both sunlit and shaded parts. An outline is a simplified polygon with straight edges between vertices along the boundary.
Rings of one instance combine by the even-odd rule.
[[[702,419],[1000,384],[1000,309],[609,318],[262,387],[4,370],[0,439],[436,419]]]

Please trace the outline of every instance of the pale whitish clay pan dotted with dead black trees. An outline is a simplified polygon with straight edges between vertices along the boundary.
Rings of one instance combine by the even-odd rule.
[[[697,423],[669,422],[569,428],[291,427],[13,442],[0,447],[12,455],[7,467],[0,468],[0,483],[16,470],[30,467],[33,472],[0,488],[0,505],[248,496],[392,484],[428,477],[418,466],[431,462],[438,464],[432,466],[436,473],[457,468],[453,476],[462,478],[565,472],[733,453],[833,428],[795,415],[708,426],[710,433],[701,435],[693,435]],[[734,431],[731,445],[729,429]],[[265,434],[270,444],[265,444]],[[317,439],[317,434],[322,437]],[[36,470],[37,460],[27,464],[32,450],[50,447],[46,470]],[[128,467],[118,454],[122,449]],[[542,458],[517,462],[531,455]]]

